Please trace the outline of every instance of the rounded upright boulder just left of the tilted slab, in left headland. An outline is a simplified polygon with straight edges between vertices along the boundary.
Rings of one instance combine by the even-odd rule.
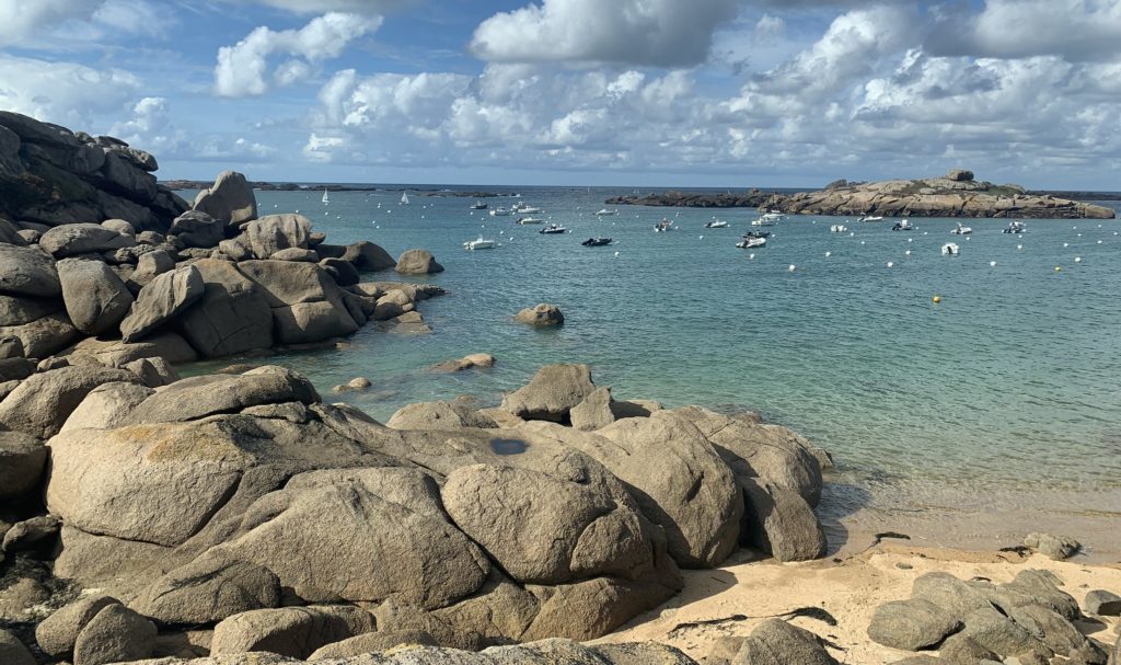
[[[58,261],[66,314],[87,335],[117,329],[132,306],[132,294],[108,265],[85,259]]]

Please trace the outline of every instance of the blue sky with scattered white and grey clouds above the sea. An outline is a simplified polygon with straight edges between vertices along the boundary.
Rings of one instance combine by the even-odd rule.
[[[0,0],[0,108],[159,177],[1121,190],[1121,0]]]

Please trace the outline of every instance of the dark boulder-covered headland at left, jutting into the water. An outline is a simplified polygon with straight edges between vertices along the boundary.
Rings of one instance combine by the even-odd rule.
[[[30,169],[11,176],[18,182],[49,161],[56,179],[59,165],[85,169],[83,183],[131,174],[145,183],[133,190],[151,196],[129,198],[146,216],[108,203],[83,207],[77,185],[62,181],[50,181],[49,205],[19,203],[30,201],[22,190],[9,198],[0,192],[0,359],[47,358],[83,340],[82,351],[172,362],[323,343],[369,321],[420,326],[416,301],[442,293],[362,283],[363,273],[398,262],[370,242],[330,244],[298,214],[258,218],[241,174],[221,174],[187,210],[145,170],[155,159],[114,139],[0,113],[0,144],[8,135],[16,137],[8,141],[15,157],[2,173],[17,163]],[[0,183],[8,182],[2,173]],[[106,219],[105,211],[120,216]],[[402,274],[439,269],[423,250],[406,258]]]

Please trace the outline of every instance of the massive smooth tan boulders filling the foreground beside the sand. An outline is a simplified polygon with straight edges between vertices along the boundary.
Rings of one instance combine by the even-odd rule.
[[[429,646],[369,662],[691,663],[655,645],[436,647],[595,638],[675,594],[682,567],[825,548],[824,452],[753,414],[615,400],[585,366],[387,426],[279,367],[6,362],[25,375],[0,403],[0,500],[22,497],[0,521],[24,534],[8,555],[87,590],[37,626],[49,593],[15,613],[28,646],[74,665],[402,644]]]

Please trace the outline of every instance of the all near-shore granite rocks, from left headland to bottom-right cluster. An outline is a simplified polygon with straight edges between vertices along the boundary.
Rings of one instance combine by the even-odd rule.
[[[282,367],[180,378],[370,321],[424,332],[417,303],[442,289],[362,275],[443,268],[258,216],[241,174],[187,204],[117,139],[13,114],[0,130],[0,663],[688,665],[668,639],[580,643],[687,591],[689,571],[826,554],[828,453],[752,413],[618,399],[583,364],[385,424]],[[152,207],[123,197],[121,164]],[[524,320],[563,322],[549,307]],[[917,598],[869,636],[1104,665],[1105,643],[1075,636],[1078,604],[1025,579],[969,587],[989,606],[951,616]],[[897,639],[916,632],[938,635]],[[705,663],[830,665],[835,647],[772,618]]]

